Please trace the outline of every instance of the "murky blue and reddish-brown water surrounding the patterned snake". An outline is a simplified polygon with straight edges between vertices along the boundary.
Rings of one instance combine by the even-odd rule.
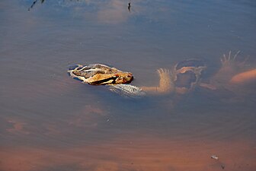
[[[74,64],[156,69],[241,50],[256,67],[253,1],[0,2],[0,170],[255,170],[255,82],[126,99],[68,77]],[[211,159],[217,155],[219,160]]]

